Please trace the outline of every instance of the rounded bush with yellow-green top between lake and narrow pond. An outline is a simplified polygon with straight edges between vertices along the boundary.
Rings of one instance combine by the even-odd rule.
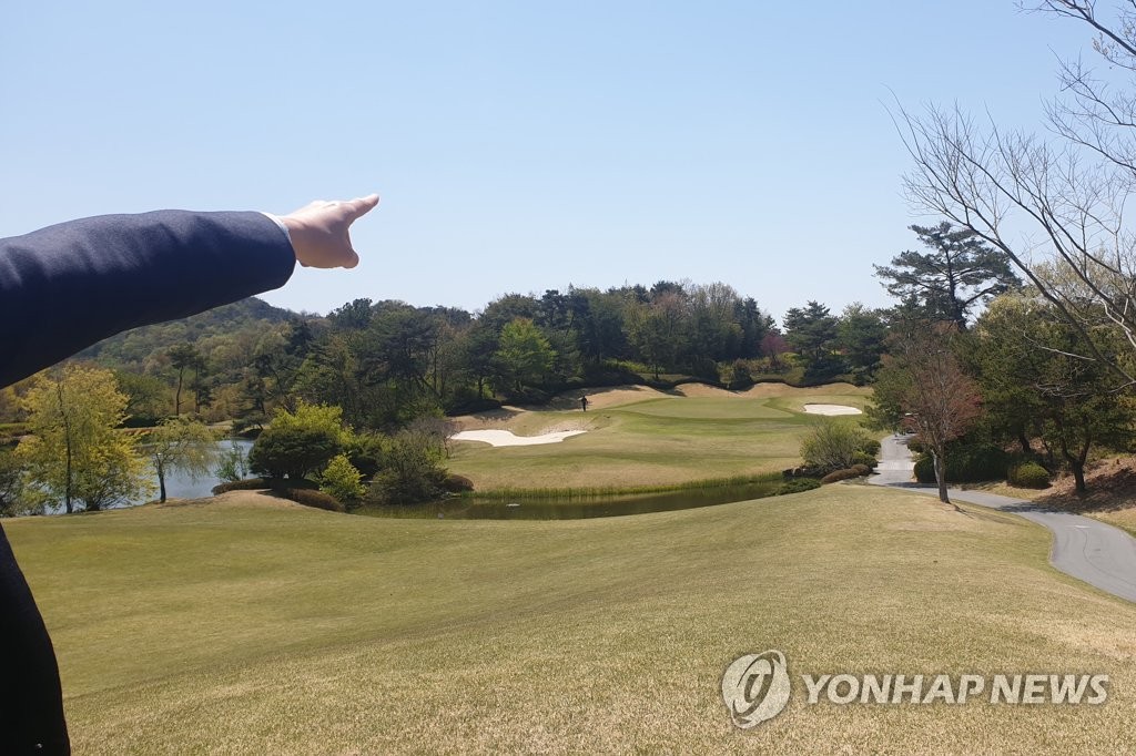
[[[249,468],[269,478],[299,480],[318,472],[343,451],[342,410],[300,403],[295,412],[276,411],[249,453]]]

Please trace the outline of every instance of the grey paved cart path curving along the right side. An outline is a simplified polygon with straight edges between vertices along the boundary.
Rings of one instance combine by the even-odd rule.
[[[935,487],[912,482],[913,467],[908,438],[889,436],[883,442],[879,467],[869,482],[937,496]],[[1120,528],[1071,512],[1049,510],[1028,499],[958,488],[947,493],[952,499],[1011,512],[1049,528],[1053,534],[1050,551],[1053,566],[1113,596],[1136,602],[1136,538]]]

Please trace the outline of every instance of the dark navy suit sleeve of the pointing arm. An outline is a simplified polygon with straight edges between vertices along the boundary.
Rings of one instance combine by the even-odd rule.
[[[128,328],[278,288],[294,267],[259,212],[99,216],[0,240],[0,387]]]

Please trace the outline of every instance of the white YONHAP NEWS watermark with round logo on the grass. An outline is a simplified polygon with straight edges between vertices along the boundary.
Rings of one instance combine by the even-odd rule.
[[[1108,674],[829,672],[794,678],[785,655],[772,649],[734,660],[721,675],[721,698],[733,723],[749,730],[780,714],[797,686],[810,706],[1100,706],[1109,699]]]

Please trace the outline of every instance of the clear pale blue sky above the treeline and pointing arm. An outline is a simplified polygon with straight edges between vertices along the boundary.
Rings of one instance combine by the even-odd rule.
[[[953,2],[11,2],[0,236],[376,191],[352,271],[265,299],[478,309],[725,280],[887,303],[916,245],[892,96],[1039,123],[1070,22]]]

